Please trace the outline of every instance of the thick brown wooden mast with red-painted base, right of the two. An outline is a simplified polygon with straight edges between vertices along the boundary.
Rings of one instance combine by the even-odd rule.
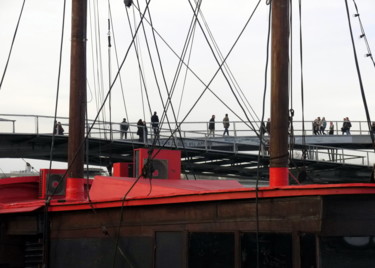
[[[289,0],[272,0],[270,186],[288,185]]]

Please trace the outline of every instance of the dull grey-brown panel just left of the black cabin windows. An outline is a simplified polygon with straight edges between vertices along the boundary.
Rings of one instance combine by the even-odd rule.
[[[155,267],[184,267],[184,241],[182,232],[156,232]]]

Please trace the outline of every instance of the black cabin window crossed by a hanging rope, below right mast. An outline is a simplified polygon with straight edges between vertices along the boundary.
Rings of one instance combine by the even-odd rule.
[[[292,267],[292,235],[255,233],[241,234],[241,268],[256,268],[259,252],[260,268]]]

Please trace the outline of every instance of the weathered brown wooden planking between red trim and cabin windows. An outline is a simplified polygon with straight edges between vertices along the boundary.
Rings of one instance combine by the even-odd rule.
[[[319,232],[321,197],[293,197],[259,200],[259,224],[267,232]],[[121,208],[93,211],[55,212],[51,215],[52,237],[102,236],[104,225],[117,233]],[[125,207],[122,234],[151,235],[163,231],[256,230],[254,200]]]

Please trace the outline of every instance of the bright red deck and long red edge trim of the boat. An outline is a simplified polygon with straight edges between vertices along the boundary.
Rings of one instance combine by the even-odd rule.
[[[214,200],[255,199],[255,188],[245,188],[237,181],[162,180],[97,176],[84,200],[52,200],[50,211],[204,202]],[[38,177],[0,180],[0,213],[30,212],[45,205],[39,199]],[[282,198],[313,195],[375,194],[373,183],[310,184],[283,187],[262,187],[259,198]]]

